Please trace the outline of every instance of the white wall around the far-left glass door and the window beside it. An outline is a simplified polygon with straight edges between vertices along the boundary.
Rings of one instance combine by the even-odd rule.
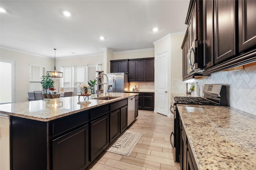
[[[3,59],[15,60],[15,102],[28,101],[29,92],[29,64],[44,66],[46,71],[54,69],[54,59],[39,57],[19,51],[1,48]]]

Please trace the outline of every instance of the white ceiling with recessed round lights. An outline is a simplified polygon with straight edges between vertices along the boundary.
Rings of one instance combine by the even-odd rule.
[[[189,0],[1,0],[6,13],[0,14],[0,45],[45,57],[54,57],[56,48],[56,58],[103,48],[153,48],[168,33],[186,31],[188,5]]]

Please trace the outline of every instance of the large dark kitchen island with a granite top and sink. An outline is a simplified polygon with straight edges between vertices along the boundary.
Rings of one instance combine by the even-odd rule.
[[[85,169],[126,129],[127,98],[138,94],[107,95],[0,105],[10,115],[11,169]]]

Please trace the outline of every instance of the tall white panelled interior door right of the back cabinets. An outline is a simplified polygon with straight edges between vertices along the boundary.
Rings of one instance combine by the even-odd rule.
[[[168,115],[168,51],[157,55],[157,113]]]

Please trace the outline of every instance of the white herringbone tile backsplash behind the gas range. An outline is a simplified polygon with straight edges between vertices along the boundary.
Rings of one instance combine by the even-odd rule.
[[[222,71],[208,78],[194,80],[200,86],[200,96],[204,84],[226,84],[228,106],[256,115],[256,108],[250,107],[250,99],[256,100],[256,66],[240,71]],[[172,81],[172,92],[186,93],[186,82]]]

